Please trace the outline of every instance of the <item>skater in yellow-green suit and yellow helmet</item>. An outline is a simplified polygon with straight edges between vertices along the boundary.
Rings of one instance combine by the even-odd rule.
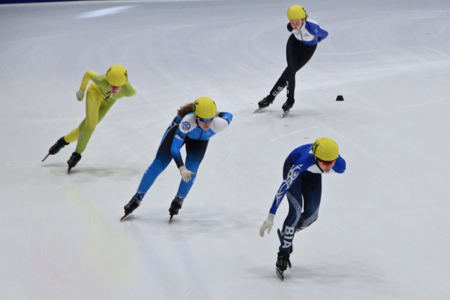
[[[68,172],[77,165],[82,158],[82,153],[86,149],[87,143],[91,138],[96,126],[103,119],[106,113],[117,99],[124,96],[130,97],[136,94],[136,90],[128,82],[127,70],[122,65],[112,65],[106,74],[98,75],[92,71],[87,71],[82,80],[82,85],[77,92],[77,100],[82,101],[84,91],[89,80],[91,85],[86,93],[86,118],[82,120],[77,128],[58,139],[58,141],[49,149],[49,155],[57,154],[60,149],[71,142],[77,141],[75,152],[68,160]],[[44,161],[47,156],[42,160]]]

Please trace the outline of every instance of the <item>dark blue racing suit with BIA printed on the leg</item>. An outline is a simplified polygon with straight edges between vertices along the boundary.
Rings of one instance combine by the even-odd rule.
[[[294,233],[317,220],[322,194],[322,173],[312,154],[312,144],[294,149],[283,165],[283,182],[276,192],[270,213],[275,214],[287,194],[289,212],[281,231],[281,252],[292,251]],[[345,160],[338,156],[330,173],[344,173]],[[303,208],[303,212],[302,212]]]

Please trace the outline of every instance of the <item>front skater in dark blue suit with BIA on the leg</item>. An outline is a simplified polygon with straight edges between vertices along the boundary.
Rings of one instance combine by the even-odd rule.
[[[316,139],[294,149],[283,165],[283,182],[276,192],[269,215],[259,228],[259,235],[271,231],[278,206],[285,194],[289,212],[280,232],[281,245],[276,261],[277,273],[283,279],[283,272],[290,267],[289,256],[293,249],[295,232],[317,220],[322,194],[322,174],[344,173],[345,160],[339,155],[338,144],[329,137]],[[302,211],[303,209],[303,211]]]

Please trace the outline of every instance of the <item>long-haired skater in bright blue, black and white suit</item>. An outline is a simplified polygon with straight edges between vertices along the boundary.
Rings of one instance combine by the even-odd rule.
[[[216,104],[208,97],[200,97],[191,104],[181,106],[162,137],[155,160],[143,174],[136,194],[124,206],[125,215],[121,220],[141,204],[143,196],[172,158],[180,171],[181,182],[169,208],[170,219],[173,215],[177,215],[194,183],[210,138],[228,127],[232,119],[231,113],[217,113]],[[184,144],[186,144],[186,164],[181,157],[181,147]]]

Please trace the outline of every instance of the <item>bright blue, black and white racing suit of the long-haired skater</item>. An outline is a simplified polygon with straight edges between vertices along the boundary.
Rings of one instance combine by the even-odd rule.
[[[176,115],[171,125],[165,131],[156,157],[153,163],[147,168],[141,179],[141,184],[134,196],[143,199],[148,189],[153,185],[156,178],[162,173],[172,158],[179,168],[184,165],[181,157],[181,147],[186,144],[186,168],[193,173],[197,173],[198,167],[205,156],[205,151],[210,138],[221,130],[228,127],[233,120],[231,113],[221,112],[212,120],[208,130],[201,129],[197,124],[197,118],[194,113],[187,113],[184,118]],[[180,180],[176,197],[181,201],[186,198],[195,180],[184,182]]]

